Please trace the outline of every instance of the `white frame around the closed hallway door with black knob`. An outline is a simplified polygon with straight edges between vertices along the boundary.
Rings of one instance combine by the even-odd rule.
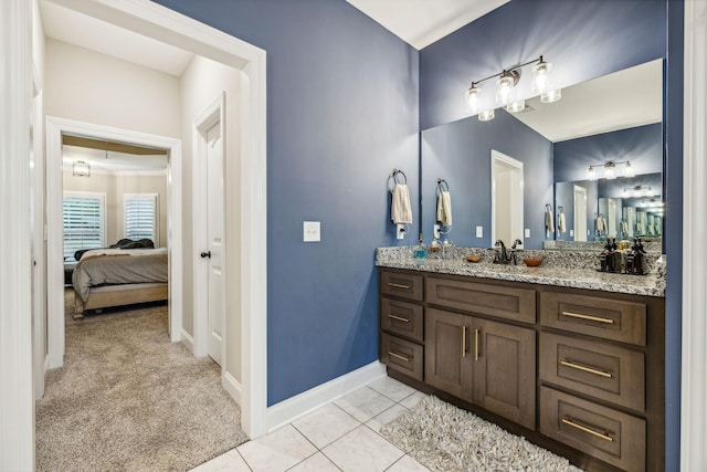
[[[225,130],[225,94],[221,92],[219,96],[217,96],[200,114],[193,122],[192,129],[192,144],[193,144],[193,155],[192,155],[192,223],[193,223],[193,284],[194,284],[194,296],[193,296],[193,316],[194,316],[194,356],[203,357],[209,353],[209,303],[208,303],[208,273],[209,268],[208,264],[204,264],[201,256],[199,255],[200,251],[204,251],[208,241],[208,231],[207,231],[207,211],[197,211],[197,209],[205,208],[208,198],[208,175],[205,165],[200,165],[203,159],[207,158],[207,133],[214,125],[219,124],[221,128],[221,140],[223,146],[223,164],[224,169],[222,175],[225,177],[225,140],[228,139],[226,130]],[[221,196],[224,198],[224,195]],[[223,207],[225,208],[225,206]],[[224,231],[225,231],[225,216],[223,217],[224,222]],[[224,240],[226,234],[224,233]],[[228,281],[229,276],[229,268],[225,261],[228,261],[228,252],[229,244],[224,242],[223,252],[222,252],[222,264],[223,266],[223,281]],[[222,286],[222,295],[224,294],[224,286]],[[222,304],[222,307],[225,308],[225,303]],[[224,310],[228,313],[228,311]],[[225,322],[225,318],[223,318]],[[225,323],[224,323],[225,324]],[[222,326],[221,329],[222,343],[223,346],[221,349],[221,374],[228,371],[226,368],[226,355],[225,347],[228,346],[226,340],[226,329],[225,326]],[[236,398],[236,401],[239,399]]]

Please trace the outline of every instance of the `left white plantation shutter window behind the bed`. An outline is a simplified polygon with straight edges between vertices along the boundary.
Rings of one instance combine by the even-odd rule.
[[[64,260],[80,249],[105,248],[105,193],[64,193]]]

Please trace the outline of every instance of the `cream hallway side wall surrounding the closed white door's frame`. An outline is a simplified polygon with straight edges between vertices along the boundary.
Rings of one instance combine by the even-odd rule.
[[[224,212],[225,212],[225,248],[228,251],[228,266],[233,268],[226,274],[229,290],[226,291],[226,371],[239,382],[241,381],[241,313],[240,313],[240,86],[241,73],[232,67],[213,62],[205,57],[196,56],[181,76],[182,102],[182,167],[186,178],[182,181],[182,242],[184,261],[183,271],[183,328],[193,336],[193,260],[200,248],[193,247],[192,214],[192,168],[196,165],[192,155],[192,133],[194,119],[209,106],[221,92],[225,93],[225,172],[224,172]],[[256,232],[254,231],[254,234]],[[234,340],[234,342],[231,342]]]

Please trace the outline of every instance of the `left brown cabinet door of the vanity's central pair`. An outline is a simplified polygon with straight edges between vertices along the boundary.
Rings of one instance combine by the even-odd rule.
[[[471,401],[473,358],[472,317],[429,308],[424,321],[424,381]]]

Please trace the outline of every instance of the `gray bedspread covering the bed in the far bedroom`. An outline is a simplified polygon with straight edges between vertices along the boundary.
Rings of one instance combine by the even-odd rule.
[[[167,254],[95,255],[82,258],[74,269],[74,290],[84,302],[91,287],[169,280]]]

